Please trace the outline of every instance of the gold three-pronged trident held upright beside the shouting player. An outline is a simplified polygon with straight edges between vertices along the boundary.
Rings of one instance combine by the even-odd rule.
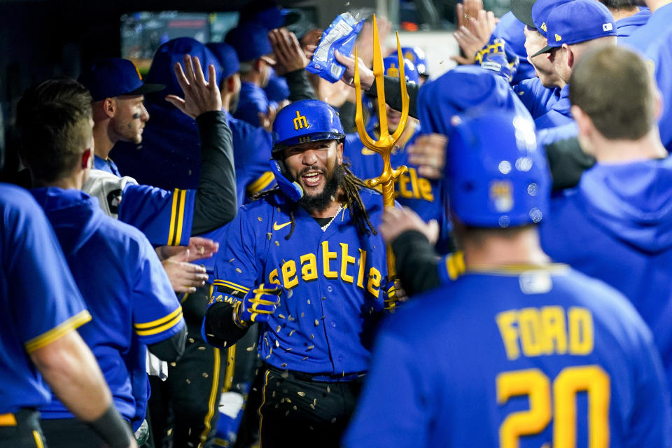
[[[390,135],[387,129],[387,114],[385,113],[385,87],[383,75],[385,68],[383,65],[383,57],[380,52],[380,41],[378,36],[378,25],[376,23],[376,15],[373,15],[373,74],[376,79],[376,90],[378,92],[378,120],[380,123],[380,137],[374,140],[369,137],[364,127],[364,119],[362,116],[362,86],[359,78],[359,67],[357,59],[357,48],[355,48],[355,94],[356,94],[356,115],[355,123],[357,125],[357,132],[362,140],[364,146],[369,148],[374,153],[378,153],[383,158],[383,172],[375,179],[366,181],[369,188],[377,186],[382,187],[383,206],[386,209],[394,207],[394,180],[402,174],[405,174],[408,169],[405,165],[392,169],[390,164],[390,155],[392,148],[397,143],[399,137],[406,128],[408,119],[408,104],[409,97],[406,91],[406,76],[404,73],[404,58],[401,54],[401,45],[399,43],[399,34],[397,33],[397,58],[399,61],[399,84],[401,86],[401,120],[395,132]],[[394,253],[391,246],[387,246],[387,279],[392,281],[396,277],[394,267]]]

